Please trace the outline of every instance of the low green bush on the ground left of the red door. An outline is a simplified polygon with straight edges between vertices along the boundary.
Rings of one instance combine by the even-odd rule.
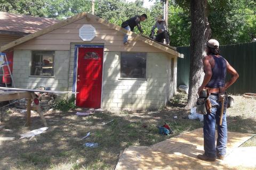
[[[68,100],[63,99],[55,105],[55,108],[62,112],[67,112],[70,109],[75,109],[76,108],[75,99],[76,99],[75,95],[72,95]]]

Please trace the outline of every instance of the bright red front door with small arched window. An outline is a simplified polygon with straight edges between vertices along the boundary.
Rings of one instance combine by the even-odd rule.
[[[76,105],[100,108],[103,48],[78,48]]]

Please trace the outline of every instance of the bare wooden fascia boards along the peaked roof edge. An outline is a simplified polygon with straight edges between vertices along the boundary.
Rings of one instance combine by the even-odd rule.
[[[51,26],[49,26],[45,29],[39,30],[35,33],[32,33],[32,34],[28,35],[28,36],[25,36],[25,37],[22,37],[20,39],[15,40],[15,41],[12,41],[11,43],[2,46],[0,50],[1,50],[1,52],[4,52],[5,50],[11,49],[15,46],[18,46],[22,43],[25,43],[26,41],[29,41],[33,38],[42,36],[42,35],[44,35],[48,32],[59,29],[60,27],[63,27],[67,24],[70,24],[70,23],[75,22],[75,21],[77,21],[79,19],[82,19],[82,18],[86,18],[87,20],[94,19],[95,21],[97,21],[97,22],[99,22],[103,25],[106,25],[110,29],[115,29],[119,32],[126,33],[127,35],[133,37],[135,40],[143,41],[144,43],[146,43],[148,45],[151,45],[153,47],[156,47],[158,49],[163,50],[163,52],[169,53],[173,56],[178,56],[178,57],[183,58],[183,54],[178,53],[174,49],[175,47],[171,47],[171,46],[168,46],[168,45],[162,45],[162,44],[156,43],[154,40],[151,40],[149,38],[145,38],[145,36],[141,36],[141,35],[138,35],[137,33],[132,32],[132,31],[125,30],[124,28],[119,27],[118,25],[112,24],[112,23],[110,23],[106,20],[103,20],[103,19],[99,18],[98,16],[95,16],[95,15],[92,15],[92,14],[86,13],[86,12],[79,13],[79,14],[71,17],[71,18],[68,18],[68,19],[63,20],[63,21],[59,21],[58,23],[55,23],[54,25],[51,25]]]

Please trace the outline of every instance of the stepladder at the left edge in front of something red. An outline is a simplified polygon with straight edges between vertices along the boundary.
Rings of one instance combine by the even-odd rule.
[[[7,60],[5,53],[0,53],[0,69],[2,73],[0,73],[0,77],[3,77],[3,82],[5,83],[5,87],[8,87],[8,80],[11,79],[12,87],[15,88],[15,84],[12,77],[12,72],[10,69],[10,62]]]

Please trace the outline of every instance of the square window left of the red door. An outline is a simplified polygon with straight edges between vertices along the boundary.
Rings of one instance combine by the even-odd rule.
[[[54,75],[54,51],[33,51],[30,75],[52,77]]]

